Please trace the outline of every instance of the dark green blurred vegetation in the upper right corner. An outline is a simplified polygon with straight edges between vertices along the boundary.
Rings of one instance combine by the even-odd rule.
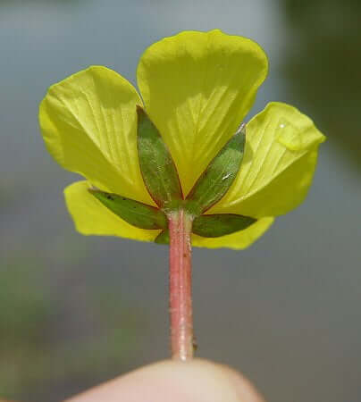
[[[361,1],[281,0],[291,31],[285,75],[317,125],[361,170]]]

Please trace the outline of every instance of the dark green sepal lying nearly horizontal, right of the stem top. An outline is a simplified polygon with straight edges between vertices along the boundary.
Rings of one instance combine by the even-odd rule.
[[[210,214],[193,221],[193,233],[204,238],[219,238],[235,231],[247,229],[256,219],[238,214]]]

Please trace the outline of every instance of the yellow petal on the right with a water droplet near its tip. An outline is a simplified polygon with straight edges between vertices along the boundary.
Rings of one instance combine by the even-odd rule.
[[[209,213],[286,214],[306,197],[325,140],[305,114],[273,102],[247,125],[246,151],[230,191]]]

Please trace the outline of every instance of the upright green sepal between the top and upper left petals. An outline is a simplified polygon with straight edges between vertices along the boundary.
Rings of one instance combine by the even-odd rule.
[[[137,106],[140,172],[147,190],[160,207],[183,199],[181,181],[172,155],[147,113]]]

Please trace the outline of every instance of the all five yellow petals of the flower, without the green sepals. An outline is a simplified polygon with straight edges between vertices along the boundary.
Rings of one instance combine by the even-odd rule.
[[[171,151],[186,196],[199,175],[237,130],[268,69],[252,40],[215,29],[185,31],[150,46],[137,71],[139,91],[101,66],[49,88],[39,120],[48,151],[63,168],[87,180],[65,189],[80,233],[153,241],[161,230],[131,226],[88,188],[155,205],[139,169],[136,106],[147,110]],[[207,214],[257,219],[220,238],[192,235],[199,247],[248,247],[306,197],[324,140],[296,108],[270,103],[247,124],[245,156],[227,194]]]

